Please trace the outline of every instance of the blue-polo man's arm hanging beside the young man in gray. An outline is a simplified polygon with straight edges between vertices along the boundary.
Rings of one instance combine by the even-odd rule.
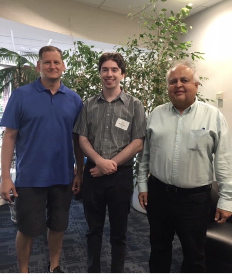
[[[77,194],[81,190],[84,162],[84,153],[80,148],[79,135],[77,133],[73,133],[73,152],[75,156],[77,172],[73,179],[72,191],[73,194]]]

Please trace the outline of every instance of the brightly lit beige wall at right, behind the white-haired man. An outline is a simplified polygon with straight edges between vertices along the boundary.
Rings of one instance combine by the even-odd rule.
[[[224,114],[232,134],[232,1],[224,0],[186,19],[188,40],[194,51],[204,52],[205,61],[195,63],[196,69],[209,80],[203,82],[201,93],[215,101],[213,105]],[[224,100],[216,93],[224,92]]]

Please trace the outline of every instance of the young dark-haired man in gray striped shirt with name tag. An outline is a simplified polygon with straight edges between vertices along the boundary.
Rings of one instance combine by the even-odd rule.
[[[141,101],[120,87],[126,72],[121,54],[104,53],[99,59],[99,72],[103,89],[84,102],[74,127],[88,157],[82,185],[88,223],[88,273],[101,272],[106,205],[110,221],[111,273],[122,273],[127,216],[133,193],[133,158],[143,148],[146,116]]]

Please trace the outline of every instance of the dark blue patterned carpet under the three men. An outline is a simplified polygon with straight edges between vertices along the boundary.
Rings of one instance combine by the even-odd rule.
[[[9,206],[0,206],[0,273],[19,273],[15,253],[17,226],[10,219]],[[69,227],[64,235],[60,266],[65,273],[86,273],[87,229],[82,200],[72,200]],[[110,227],[106,217],[102,244],[102,273],[110,273]],[[128,222],[128,246],[125,273],[149,273],[150,254],[149,224],[146,214],[131,207]],[[46,273],[49,252],[46,233],[36,237],[31,252],[30,273]],[[179,240],[173,241],[173,263],[171,273],[180,273],[182,250]]]

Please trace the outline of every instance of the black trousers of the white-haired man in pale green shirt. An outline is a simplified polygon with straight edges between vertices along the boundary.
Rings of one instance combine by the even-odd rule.
[[[205,242],[210,220],[210,192],[178,195],[154,176],[148,180],[150,273],[170,273],[175,232],[183,249],[181,273],[206,273]]]

